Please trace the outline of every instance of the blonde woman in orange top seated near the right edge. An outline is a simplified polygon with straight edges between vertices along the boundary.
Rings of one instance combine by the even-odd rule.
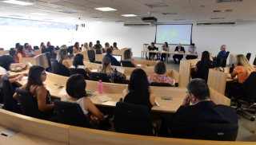
[[[254,66],[250,65],[250,62],[247,58],[238,54],[235,60],[235,68],[231,73],[231,78],[234,79],[235,76],[238,76],[238,82],[233,84],[228,93],[228,97],[232,99],[244,99],[242,96],[246,94],[246,92],[242,89],[242,83],[250,76],[251,72],[254,72]]]

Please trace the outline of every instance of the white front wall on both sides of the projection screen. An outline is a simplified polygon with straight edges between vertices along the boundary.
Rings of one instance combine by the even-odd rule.
[[[193,26],[192,40],[198,47],[199,57],[205,50],[217,55],[221,45],[226,45],[226,50],[230,53],[252,53],[250,61],[254,61],[256,55],[254,39],[256,38],[256,22],[238,22],[238,25],[203,25]],[[74,40],[80,43],[97,40],[102,46],[105,42],[114,41],[118,43],[118,48],[130,47],[133,49],[134,57],[141,56],[143,44],[150,44],[154,41],[155,26],[123,26],[122,23],[99,23],[86,24],[85,28],[79,28],[74,33]],[[160,45],[158,45],[160,46]],[[170,45],[174,49],[175,45]],[[185,46],[187,49],[188,46]],[[185,57],[184,57],[185,58]]]

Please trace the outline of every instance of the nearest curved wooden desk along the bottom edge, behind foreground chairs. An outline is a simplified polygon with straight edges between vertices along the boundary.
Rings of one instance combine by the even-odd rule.
[[[129,135],[111,131],[99,131],[85,127],[74,127],[46,120],[38,120],[0,109],[0,131],[10,129],[17,134],[9,139],[0,135],[1,144],[224,144],[249,145],[252,142],[221,142],[196,139],[173,139],[143,135]]]

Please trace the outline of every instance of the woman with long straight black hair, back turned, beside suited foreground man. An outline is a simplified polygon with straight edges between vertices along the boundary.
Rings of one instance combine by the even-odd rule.
[[[134,69],[131,72],[129,85],[123,90],[122,99],[125,103],[144,105],[151,111],[155,95],[150,91],[150,84],[143,69]]]

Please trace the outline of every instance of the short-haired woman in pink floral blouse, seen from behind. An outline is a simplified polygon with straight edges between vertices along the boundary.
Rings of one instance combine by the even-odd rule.
[[[163,62],[158,62],[154,65],[154,74],[148,77],[150,83],[168,83],[172,86],[175,86],[175,80],[166,76],[166,65]]]

